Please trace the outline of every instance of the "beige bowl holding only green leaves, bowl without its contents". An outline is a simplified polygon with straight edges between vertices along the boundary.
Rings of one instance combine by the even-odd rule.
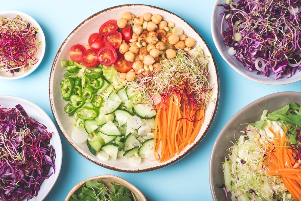
[[[76,184],[68,193],[64,201],[70,201],[70,196],[73,194],[79,193],[82,189],[82,186],[85,184],[86,181],[103,181],[104,185],[108,187],[109,189],[112,188],[112,183],[118,183],[118,184],[123,184],[127,188],[129,188],[130,191],[132,191],[137,199],[137,201],[147,201],[144,195],[141,193],[141,191],[135,187],[133,184],[129,183],[128,181],[124,180],[123,178],[114,176],[114,175],[100,175],[100,176],[95,176],[91,177],[88,179],[85,179],[78,184]]]

